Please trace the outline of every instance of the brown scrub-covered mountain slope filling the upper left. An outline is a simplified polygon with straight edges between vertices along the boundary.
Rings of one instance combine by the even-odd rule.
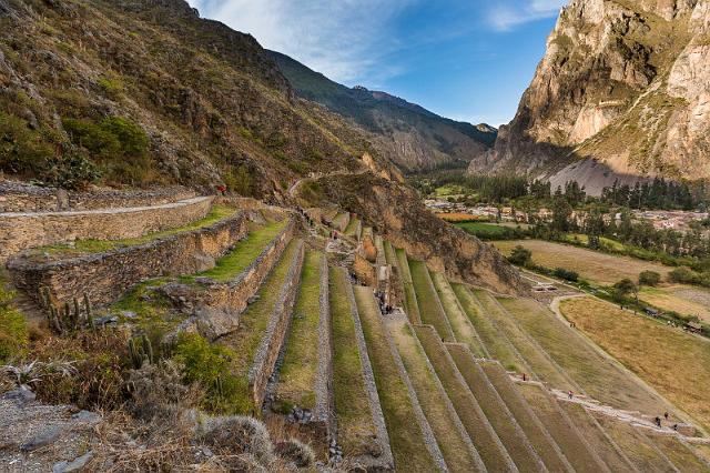
[[[0,0],[0,175],[80,187],[100,173],[101,184],[207,192],[226,183],[290,204],[307,175],[357,173],[363,207],[375,199],[363,189],[381,179],[396,190],[386,205],[409,207],[416,195],[377,150],[371,133],[298,99],[251,36],[183,0]],[[427,231],[448,231],[425,217]],[[436,252],[436,241],[403,238]],[[467,279],[485,256],[500,272],[489,286],[516,291],[495,250],[458,238],[468,253],[442,255],[439,268]]]

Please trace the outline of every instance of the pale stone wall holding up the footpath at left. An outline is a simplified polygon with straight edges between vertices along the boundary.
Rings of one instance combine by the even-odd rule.
[[[121,240],[204,218],[211,197],[156,207],[68,212],[0,213],[0,263],[33,246],[75,240]]]

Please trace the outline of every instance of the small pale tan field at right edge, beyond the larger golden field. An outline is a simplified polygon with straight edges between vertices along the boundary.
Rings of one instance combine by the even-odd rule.
[[[710,291],[682,284],[643,288],[639,299],[665,311],[696,315],[710,323]]]

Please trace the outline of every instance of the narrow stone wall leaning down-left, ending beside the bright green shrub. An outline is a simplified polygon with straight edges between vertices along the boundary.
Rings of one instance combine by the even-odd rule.
[[[284,282],[274,310],[268,319],[268,326],[262,342],[256,350],[254,364],[250,369],[248,379],[254,395],[254,405],[257,409],[264,404],[268,379],[274,373],[278,354],[286,340],[293,306],[301,284],[301,269],[305,255],[303,241],[297,242],[298,248],[288,268],[286,281]]]

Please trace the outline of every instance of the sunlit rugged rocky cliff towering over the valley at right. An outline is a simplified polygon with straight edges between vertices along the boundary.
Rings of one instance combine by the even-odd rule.
[[[514,121],[471,171],[597,193],[615,180],[710,178],[707,0],[572,0]]]

